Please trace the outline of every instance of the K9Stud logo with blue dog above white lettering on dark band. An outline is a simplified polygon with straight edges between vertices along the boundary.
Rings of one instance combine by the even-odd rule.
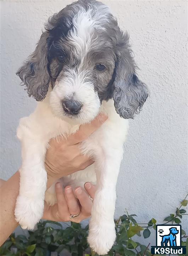
[[[156,225],[156,246],[152,254],[186,254],[186,246],[181,246],[181,225]]]

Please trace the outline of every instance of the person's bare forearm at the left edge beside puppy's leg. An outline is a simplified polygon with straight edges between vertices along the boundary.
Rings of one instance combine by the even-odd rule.
[[[19,171],[4,182],[0,188],[0,245],[18,226],[14,215],[18,193]]]

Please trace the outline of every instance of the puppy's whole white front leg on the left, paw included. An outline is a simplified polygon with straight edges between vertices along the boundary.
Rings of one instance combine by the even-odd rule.
[[[46,145],[40,138],[32,137],[27,132],[22,133],[19,139],[22,141],[23,162],[20,169],[20,188],[15,217],[23,229],[33,229],[44,210],[47,182],[44,167]]]

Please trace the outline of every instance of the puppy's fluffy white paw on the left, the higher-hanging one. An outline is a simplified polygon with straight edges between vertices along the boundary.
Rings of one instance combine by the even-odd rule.
[[[19,195],[16,201],[15,219],[23,229],[34,229],[42,218],[44,201]]]

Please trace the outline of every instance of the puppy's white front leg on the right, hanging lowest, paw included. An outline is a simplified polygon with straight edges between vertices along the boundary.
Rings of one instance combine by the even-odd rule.
[[[106,149],[104,159],[96,164],[97,191],[93,201],[88,241],[99,255],[107,254],[115,241],[114,210],[116,182],[122,149]]]

